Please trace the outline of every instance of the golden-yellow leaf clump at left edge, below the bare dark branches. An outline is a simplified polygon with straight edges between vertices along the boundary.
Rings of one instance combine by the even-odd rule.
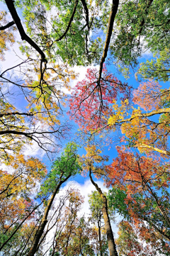
[[[37,182],[40,182],[47,174],[45,165],[37,158],[25,157],[23,155],[10,156],[6,171],[0,170],[0,201],[8,203],[6,196],[10,195],[13,211],[25,211],[25,199],[21,193],[35,193]],[[0,204],[1,204],[0,203]],[[4,206],[5,209],[6,206]],[[14,214],[14,212],[13,212]]]

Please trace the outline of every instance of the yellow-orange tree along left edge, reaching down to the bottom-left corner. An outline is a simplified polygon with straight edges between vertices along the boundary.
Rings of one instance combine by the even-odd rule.
[[[18,245],[14,246],[20,240],[18,234],[23,234],[26,229],[29,237],[33,232],[30,226],[36,226],[35,219],[38,218],[40,206],[33,200],[33,194],[46,172],[40,160],[23,155],[11,156],[6,171],[0,171],[0,250],[3,252],[12,255],[11,250],[18,250]],[[27,238],[23,238],[23,241]]]

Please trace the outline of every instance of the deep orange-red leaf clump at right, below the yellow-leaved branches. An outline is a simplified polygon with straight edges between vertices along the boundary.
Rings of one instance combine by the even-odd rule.
[[[167,167],[168,168],[168,167]],[[140,157],[118,148],[118,157],[106,167],[108,185],[118,184],[121,189],[128,189],[128,193],[135,194],[143,190],[147,182],[152,186],[152,180],[157,180],[157,186],[165,186],[169,181],[164,180],[166,167],[159,165],[157,160]],[[160,182],[159,179],[160,178]]]

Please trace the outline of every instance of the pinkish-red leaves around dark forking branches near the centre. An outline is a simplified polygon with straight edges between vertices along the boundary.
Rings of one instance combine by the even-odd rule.
[[[107,119],[113,111],[113,99],[117,100],[118,96],[126,99],[129,94],[130,87],[108,73],[106,67],[103,67],[100,85],[97,69],[87,69],[86,78],[77,83],[72,93],[69,115],[81,129],[96,130],[106,126]]]

